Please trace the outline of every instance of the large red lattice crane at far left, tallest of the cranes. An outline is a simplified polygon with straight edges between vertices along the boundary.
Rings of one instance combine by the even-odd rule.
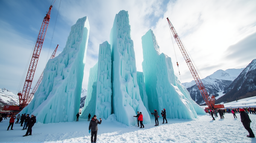
[[[22,93],[18,93],[19,96],[19,101],[20,101],[20,106],[4,106],[3,110],[19,110],[21,111],[24,107],[28,105],[28,99],[29,99],[29,90],[33,81],[33,77],[35,74],[35,69],[38,63],[38,58],[41,52],[42,45],[44,43],[44,36],[46,34],[49,21],[50,21],[50,15],[51,15],[51,10],[52,10],[52,5],[49,7],[49,11],[44,17],[43,23],[41,25],[41,29],[38,34],[38,39],[35,44],[35,49],[32,55],[32,59],[29,65],[29,70],[26,76],[26,81],[23,87]]]

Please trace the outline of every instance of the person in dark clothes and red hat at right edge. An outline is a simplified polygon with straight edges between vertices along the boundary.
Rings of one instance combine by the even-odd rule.
[[[253,134],[253,130],[250,128],[250,122],[252,122],[249,118],[249,115],[245,112],[244,109],[239,109],[241,122],[243,123],[244,128],[249,132],[247,137],[255,137]]]

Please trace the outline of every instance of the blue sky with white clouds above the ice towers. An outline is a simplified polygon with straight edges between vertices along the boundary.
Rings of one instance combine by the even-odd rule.
[[[56,56],[66,45],[70,28],[81,17],[90,23],[82,88],[98,61],[99,44],[109,42],[115,15],[128,11],[137,71],[143,71],[141,37],[152,29],[160,52],[172,58],[182,83],[193,77],[173,39],[172,22],[201,79],[217,70],[246,67],[256,59],[256,0],[0,0],[0,88],[22,91],[26,65],[49,10],[51,19],[38,60],[32,88],[57,44]],[[59,10],[58,10],[59,9]],[[173,43],[172,43],[173,40]],[[175,56],[176,55],[176,56]],[[176,60],[177,59],[177,60]],[[176,66],[179,63],[179,69]],[[180,75],[179,75],[180,71]],[[25,73],[25,74],[24,74]]]

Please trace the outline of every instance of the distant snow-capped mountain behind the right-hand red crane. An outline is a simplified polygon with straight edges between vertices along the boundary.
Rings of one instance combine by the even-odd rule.
[[[215,95],[215,99],[220,98],[226,90],[226,88],[233,82],[234,79],[241,73],[241,69],[227,69],[227,70],[217,70],[210,76],[202,79],[204,87],[208,91],[209,95]],[[182,84],[189,91],[191,98],[198,104],[204,103],[204,98],[202,97],[198,86],[195,81],[186,82]]]

